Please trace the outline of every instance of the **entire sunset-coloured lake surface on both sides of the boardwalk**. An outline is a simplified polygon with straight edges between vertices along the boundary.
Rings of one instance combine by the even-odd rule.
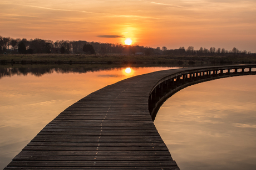
[[[48,122],[91,92],[178,68],[131,66],[126,73],[127,66],[55,67],[0,68],[0,169]],[[213,80],[186,87],[165,102],[155,125],[181,169],[255,169],[255,83],[255,75]]]

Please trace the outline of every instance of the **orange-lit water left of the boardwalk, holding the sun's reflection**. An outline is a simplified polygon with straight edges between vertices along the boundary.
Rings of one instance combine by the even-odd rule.
[[[104,67],[104,66],[103,66]],[[76,101],[117,81],[174,67],[0,68],[0,169]]]

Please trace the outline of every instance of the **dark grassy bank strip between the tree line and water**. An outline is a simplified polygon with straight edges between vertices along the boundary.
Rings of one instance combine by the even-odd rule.
[[[76,54],[8,54],[0,55],[1,64],[65,63],[230,63],[254,64],[254,56],[169,56],[169,55],[76,55]]]

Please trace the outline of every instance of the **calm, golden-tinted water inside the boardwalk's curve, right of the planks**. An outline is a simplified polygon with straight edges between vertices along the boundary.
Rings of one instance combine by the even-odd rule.
[[[256,75],[186,87],[154,121],[182,170],[256,169]]]

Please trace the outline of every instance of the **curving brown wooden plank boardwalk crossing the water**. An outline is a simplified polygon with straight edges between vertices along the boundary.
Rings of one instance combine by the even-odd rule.
[[[155,107],[183,81],[223,76],[216,70],[157,71],[95,91],[48,123],[4,169],[179,169],[152,121]]]

